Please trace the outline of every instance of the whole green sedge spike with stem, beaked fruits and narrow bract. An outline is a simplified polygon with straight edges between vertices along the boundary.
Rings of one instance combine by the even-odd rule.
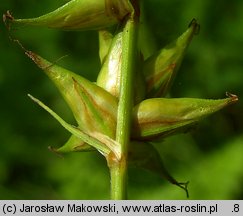
[[[37,18],[16,19],[7,11],[4,22],[59,30],[94,30],[99,35],[101,69],[96,83],[51,63],[25,48],[25,54],[56,85],[72,110],[77,125],[63,120],[37,98],[29,97],[49,112],[70,138],[59,154],[98,151],[107,161],[111,199],[127,199],[128,166],[143,168],[186,191],[188,182],[175,180],[151,143],[186,131],[202,118],[237,102],[224,99],[166,98],[185,51],[199,24],[193,19],[177,39],[144,58],[149,41],[143,41],[139,0],[71,0]],[[115,26],[115,28],[111,28]],[[115,30],[112,30],[115,29]]]

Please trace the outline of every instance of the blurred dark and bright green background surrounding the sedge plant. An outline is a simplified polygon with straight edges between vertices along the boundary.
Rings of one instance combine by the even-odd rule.
[[[0,11],[34,17],[67,0],[2,0]],[[150,0],[144,15],[156,49],[174,40],[192,18],[201,31],[190,45],[172,97],[240,101],[203,120],[191,132],[156,145],[172,175],[190,181],[190,199],[243,198],[243,1]],[[50,61],[95,80],[99,68],[96,32],[22,27],[11,35]],[[72,114],[55,86],[0,24],[0,199],[109,199],[109,172],[98,153],[60,158],[48,146],[69,137],[27,94],[40,98],[68,122]],[[185,199],[185,193],[143,170],[129,171],[130,199]]]

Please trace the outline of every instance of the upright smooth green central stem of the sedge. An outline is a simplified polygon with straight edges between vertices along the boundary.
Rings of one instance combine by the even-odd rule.
[[[133,108],[134,69],[137,57],[137,20],[131,15],[123,29],[121,87],[117,114],[116,141],[121,146],[121,159],[111,160],[111,199],[126,199],[127,151]]]

